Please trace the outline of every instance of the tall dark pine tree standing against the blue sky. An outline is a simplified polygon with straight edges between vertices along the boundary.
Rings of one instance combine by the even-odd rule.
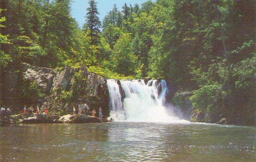
[[[96,45],[99,38],[99,28],[100,28],[100,21],[99,12],[97,10],[96,2],[94,0],[89,1],[89,7],[86,9],[88,12],[86,13],[86,25],[90,29],[89,36],[91,37],[91,45]]]

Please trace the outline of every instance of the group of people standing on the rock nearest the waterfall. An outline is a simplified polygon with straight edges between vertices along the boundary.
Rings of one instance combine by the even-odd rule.
[[[82,104],[82,102],[80,102],[78,104],[78,114],[82,114],[82,112],[85,112],[85,114],[89,115],[91,113],[91,116],[96,116],[96,110],[95,109],[90,109],[89,106],[87,106],[86,104]],[[76,107],[73,106],[73,115],[76,114]],[[103,118],[103,115],[102,115],[102,108],[101,106],[99,107],[99,118]]]

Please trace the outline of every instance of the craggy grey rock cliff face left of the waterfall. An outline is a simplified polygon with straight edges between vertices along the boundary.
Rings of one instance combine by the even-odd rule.
[[[20,71],[7,68],[3,86],[5,106],[16,110],[21,111],[24,104],[34,108],[39,105],[41,110],[48,108],[50,113],[62,115],[71,113],[72,106],[78,110],[82,102],[96,110],[101,106],[103,115],[108,115],[106,79],[89,73],[86,67],[55,71],[23,63]]]

